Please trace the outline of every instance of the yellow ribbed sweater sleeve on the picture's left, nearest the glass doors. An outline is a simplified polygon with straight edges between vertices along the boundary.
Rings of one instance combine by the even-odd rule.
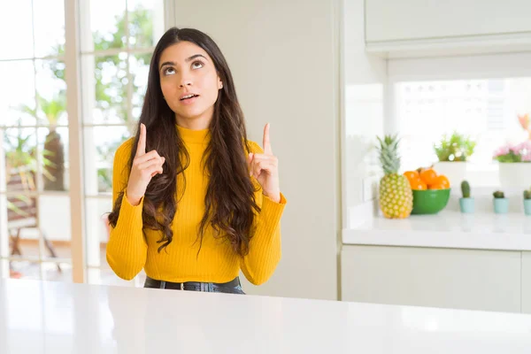
[[[146,263],[148,245],[142,232],[143,197],[138,205],[127,201],[125,190],[129,178],[128,161],[132,139],[124,142],[114,155],[112,172],[112,205],[120,192],[124,192],[116,227],[111,227],[107,243],[107,262],[120,278],[127,281],[135,278]]]

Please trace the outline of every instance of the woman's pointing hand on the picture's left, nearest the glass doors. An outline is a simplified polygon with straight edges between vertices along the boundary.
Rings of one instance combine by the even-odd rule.
[[[146,193],[151,179],[162,173],[165,158],[158,155],[156,150],[146,153],[146,126],[140,125],[140,137],[136,146],[136,155],[133,160],[129,181],[127,182],[127,201],[131,205],[140,204],[142,196]]]

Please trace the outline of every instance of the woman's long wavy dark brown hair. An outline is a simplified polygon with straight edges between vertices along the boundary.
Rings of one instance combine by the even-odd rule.
[[[256,187],[250,180],[247,167],[246,151],[251,151],[250,143],[227,61],[212,38],[196,29],[168,29],[158,41],[151,58],[148,88],[133,146],[138,144],[140,124],[143,123],[147,127],[146,150],[157,150],[160,156],[165,157],[165,165],[164,173],[153,177],[144,195],[143,227],[162,231],[158,240],[161,243],[159,252],[173,240],[171,224],[178,208],[176,191],[180,190],[177,188],[177,175],[188,167],[189,153],[175,127],[175,115],[162,95],[158,62],[167,47],[181,41],[193,42],[205,50],[223,82],[209,127],[211,139],[203,157],[204,173],[209,181],[204,197],[205,212],[197,230],[199,250],[204,231],[210,226],[216,237],[226,237],[235,252],[244,256],[249,253],[255,212],[259,212],[255,200]],[[131,171],[134,158],[135,148],[131,150],[128,171]],[[186,181],[184,183],[183,187],[186,187]],[[109,214],[112,227],[116,227],[118,222],[123,196],[124,191],[120,191]]]

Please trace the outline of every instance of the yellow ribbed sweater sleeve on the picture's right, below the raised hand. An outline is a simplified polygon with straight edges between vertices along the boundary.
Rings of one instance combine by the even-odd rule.
[[[263,153],[256,143],[251,143],[251,150]],[[255,216],[249,254],[242,258],[240,267],[248,281],[260,285],[269,280],[281,260],[281,216],[287,202],[282,194],[281,201],[274,202],[262,189],[258,189],[256,201],[261,210]]]

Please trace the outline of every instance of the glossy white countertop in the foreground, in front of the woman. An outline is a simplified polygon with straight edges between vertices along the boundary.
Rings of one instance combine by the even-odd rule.
[[[0,280],[0,353],[529,353],[531,315]]]

